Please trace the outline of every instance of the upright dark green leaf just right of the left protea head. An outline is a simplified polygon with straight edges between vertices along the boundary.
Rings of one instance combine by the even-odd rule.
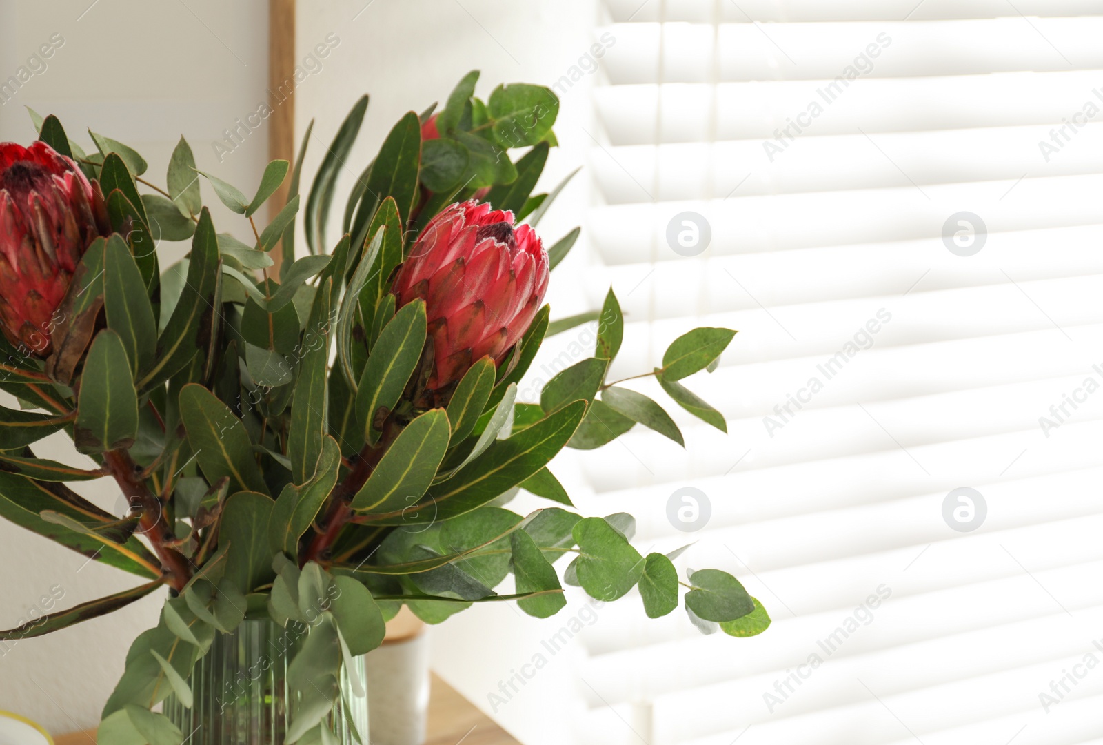
[[[107,239],[104,253],[104,309],[107,327],[119,335],[133,377],[153,358],[157,321],[138,264],[118,234]]]

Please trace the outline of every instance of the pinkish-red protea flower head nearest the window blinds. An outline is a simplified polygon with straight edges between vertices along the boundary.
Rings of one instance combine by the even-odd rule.
[[[433,345],[427,389],[459,380],[484,356],[501,365],[532,323],[548,287],[548,256],[513,213],[474,199],[429,220],[394,283],[397,305],[426,303]]]

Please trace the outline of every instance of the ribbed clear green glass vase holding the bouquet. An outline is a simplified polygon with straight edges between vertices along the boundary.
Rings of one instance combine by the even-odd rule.
[[[233,634],[215,634],[211,649],[192,669],[192,708],[174,695],[163,712],[184,733],[189,745],[283,745],[290,723],[287,668],[301,634],[271,620],[244,620]],[[365,680],[364,658],[354,658]],[[349,671],[341,672],[342,698],[329,717],[340,745],[356,745],[351,720],[367,737],[367,698],[356,697]],[[347,706],[345,705],[347,703]],[[309,737],[309,735],[308,735]],[[367,741],[363,741],[367,745]]]

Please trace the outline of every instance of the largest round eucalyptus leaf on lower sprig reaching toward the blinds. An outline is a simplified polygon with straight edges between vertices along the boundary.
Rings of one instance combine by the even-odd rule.
[[[643,557],[604,519],[583,518],[575,523],[574,535],[579,548],[578,581],[591,597],[614,601],[640,581]]]

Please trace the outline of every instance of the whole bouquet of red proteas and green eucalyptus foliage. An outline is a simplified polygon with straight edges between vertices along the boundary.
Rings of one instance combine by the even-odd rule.
[[[536,229],[563,187],[532,193],[556,145],[558,100],[514,84],[483,101],[478,76],[439,112],[395,125],[332,245],[336,177],[366,96],[306,198],[309,129],[293,171],[269,163],[251,196],[196,171],[183,139],[163,188],[133,149],[89,132],[84,150],[53,116],[32,111],[30,147],[0,144],[0,388],[20,406],[0,408],[0,515],[143,580],[0,640],[169,589],[159,625],[130,648],[99,742],[180,743],[178,722],[154,710],[169,697],[190,708],[196,661],[245,619],[301,636],[274,734],[287,743],[335,742],[346,682],[361,687],[352,662],[404,604],[428,623],[500,601],[546,617],[566,604],[563,581],[600,601],[638,586],[650,617],[681,596],[706,633],[769,625],[730,574],[683,581],[672,557],[641,555],[631,516],[572,511],[548,469],[563,447],[598,447],[635,424],[678,444],[682,434],[657,402],[607,381],[623,333],[611,291],[599,314],[549,323],[549,272],[578,236],[545,249]],[[525,152],[513,160],[515,149]],[[257,225],[288,177],[286,206]],[[240,215],[245,240],[215,229],[204,182]],[[162,270],[161,240],[191,251]],[[592,357],[538,401],[516,400],[544,338],[595,317]],[[711,371],[733,334],[689,331],[646,372],[721,430],[683,379]],[[94,465],[39,457],[34,443],[57,431]],[[126,514],[67,486],[105,476]],[[511,511],[518,489],[549,506]],[[512,592],[497,593],[508,574]]]

